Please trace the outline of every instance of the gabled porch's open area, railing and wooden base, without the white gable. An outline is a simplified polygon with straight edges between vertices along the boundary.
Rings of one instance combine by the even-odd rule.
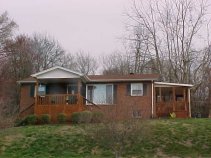
[[[85,110],[80,82],[77,80],[75,83],[52,83],[52,80],[38,80],[34,113],[38,116],[49,114],[51,120],[56,121],[59,113],[70,117],[73,112]]]

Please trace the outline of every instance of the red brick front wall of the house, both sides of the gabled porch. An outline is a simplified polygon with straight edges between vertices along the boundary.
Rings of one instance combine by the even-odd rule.
[[[151,118],[152,112],[152,83],[147,84],[147,94],[145,96],[127,95],[126,82],[115,83],[117,85],[117,103],[114,105],[99,105],[100,110],[94,106],[89,106],[93,111],[102,111],[110,119],[128,119],[133,117],[133,111],[139,111],[142,118]],[[34,97],[30,97],[30,84],[21,86],[20,111],[26,109],[34,103]],[[23,115],[34,113],[34,107],[27,110]]]

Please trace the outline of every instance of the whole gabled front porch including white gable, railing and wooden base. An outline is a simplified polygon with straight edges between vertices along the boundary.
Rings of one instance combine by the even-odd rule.
[[[59,68],[32,76],[36,79],[34,114],[49,114],[56,121],[59,113],[70,117],[86,109],[81,74]]]

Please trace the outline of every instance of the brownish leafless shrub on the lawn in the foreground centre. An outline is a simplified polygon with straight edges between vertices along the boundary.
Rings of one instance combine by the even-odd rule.
[[[89,136],[98,144],[111,149],[115,157],[119,158],[126,148],[150,136],[149,131],[147,121],[143,119],[113,120],[95,126],[89,131]]]

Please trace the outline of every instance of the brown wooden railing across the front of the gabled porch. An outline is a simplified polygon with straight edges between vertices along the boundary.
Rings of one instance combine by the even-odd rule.
[[[83,98],[79,94],[53,94],[37,96],[37,105],[68,105],[83,104]]]

